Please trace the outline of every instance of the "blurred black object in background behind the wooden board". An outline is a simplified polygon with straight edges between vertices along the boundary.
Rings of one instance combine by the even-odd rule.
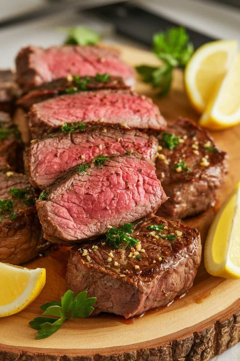
[[[149,47],[151,47],[154,33],[165,31],[172,26],[182,25],[150,13],[147,10],[143,10],[131,4],[131,2],[99,6],[91,10],[86,10],[86,12],[89,11],[91,15],[94,14],[112,23],[118,34],[128,36]],[[186,28],[186,30],[190,35],[191,42],[193,42],[195,49],[206,42],[216,40],[189,28]]]

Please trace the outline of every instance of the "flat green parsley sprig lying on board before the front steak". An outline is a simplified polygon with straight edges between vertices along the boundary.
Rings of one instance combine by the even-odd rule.
[[[33,321],[29,322],[29,325],[37,330],[37,340],[44,339],[58,331],[67,319],[90,316],[94,310],[92,306],[95,302],[96,297],[87,298],[87,291],[78,293],[74,298],[73,292],[68,290],[62,296],[61,302],[47,302],[40,306],[41,310],[44,311],[43,315],[59,318],[35,317]]]

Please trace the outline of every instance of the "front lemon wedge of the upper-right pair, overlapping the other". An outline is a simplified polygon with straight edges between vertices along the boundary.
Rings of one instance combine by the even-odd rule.
[[[221,130],[240,123],[240,52],[223,81],[219,81],[199,124]]]

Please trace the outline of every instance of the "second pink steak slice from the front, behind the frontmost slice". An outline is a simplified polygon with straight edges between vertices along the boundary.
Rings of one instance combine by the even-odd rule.
[[[85,125],[84,131],[42,138],[32,142],[24,156],[25,170],[33,187],[45,189],[65,171],[101,155],[123,155],[137,151],[154,163],[158,141],[136,130]]]

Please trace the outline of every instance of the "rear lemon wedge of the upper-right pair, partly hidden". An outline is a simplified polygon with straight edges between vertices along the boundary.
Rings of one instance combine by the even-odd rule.
[[[225,77],[236,51],[236,41],[217,40],[198,48],[187,63],[185,88],[191,104],[198,112],[205,110],[216,82]]]

